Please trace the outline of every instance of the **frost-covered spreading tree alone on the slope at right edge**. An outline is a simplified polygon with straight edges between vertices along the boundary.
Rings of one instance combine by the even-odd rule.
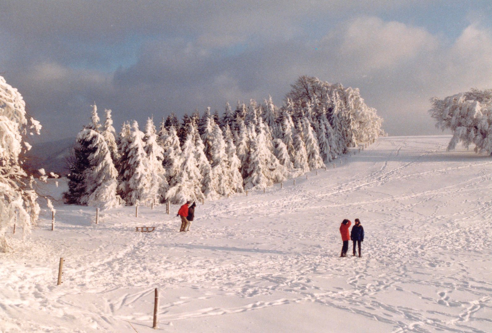
[[[437,121],[436,127],[453,131],[448,150],[461,142],[464,147],[475,144],[475,152],[492,154],[492,89],[434,97],[431,104],[429,113]]]

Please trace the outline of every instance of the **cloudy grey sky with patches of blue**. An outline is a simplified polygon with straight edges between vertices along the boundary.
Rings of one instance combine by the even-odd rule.
[[[301,75],[360,89],[390,136],[439,134],[430,98],[492,88],[492,1],[1,1],[0,75],[44,130],[119,132],[228,101],[281,106]]]

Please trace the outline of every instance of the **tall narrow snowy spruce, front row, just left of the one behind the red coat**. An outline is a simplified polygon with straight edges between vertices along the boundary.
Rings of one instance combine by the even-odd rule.
[[[157,134],[155,133],[155,126],[152,118],[147,119],[147,124],[145,126],[144,150],[147,153],[152,177],[149,195],[155,202],[162,202],[169,189],[169,184],[167,183],[165,176],[166,171],[162,166],[162,162],[164,161],[164,149],[157,143]]]

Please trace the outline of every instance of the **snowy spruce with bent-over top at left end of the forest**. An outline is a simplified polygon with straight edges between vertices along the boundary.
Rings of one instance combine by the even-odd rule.
[[[84,201],[89,206],[102,209],[121,207],[124,201],[117,194],[118,171],[111,159],[106,140],[90,128],[80,131],[77,140],[86,140],[89,142],[88,148],[92,150],[88,157],[89,167],[84,170],[87,197]]]

